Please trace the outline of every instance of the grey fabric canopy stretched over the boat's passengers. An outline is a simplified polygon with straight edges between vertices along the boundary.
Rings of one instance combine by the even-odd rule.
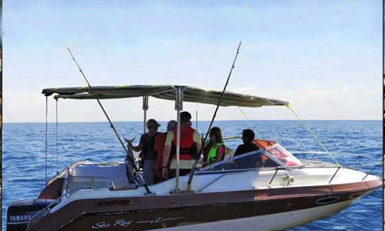
[[[92,91],[88,87],[74,88],[46,88],[45,96],[54,94],[55,98],[72,99],[111,99],[111,98],[135,98],[152,96],[169,101],[175,101],[176,89],[183,88],[183,101],[194,103],[207,103],[217,105],[222,91],[209,91],[191,86],[173,85],[131,85],[131,86],[93,86]],[[226,91],[220,106],[240,106],[258,108],[262,106],[287,106],[289,103],[272,98],[244,95]]]

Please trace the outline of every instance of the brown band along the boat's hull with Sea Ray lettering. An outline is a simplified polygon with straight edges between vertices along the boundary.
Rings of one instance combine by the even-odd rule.
[[[351,200],[380,185],[381,180],[372,180],[330,186],[76,200],[41,217],[30,230],[147,230],[268,215],[319,206],[322,203],[317,205],[315,201],[324,197],[339,197],[335,202]]]

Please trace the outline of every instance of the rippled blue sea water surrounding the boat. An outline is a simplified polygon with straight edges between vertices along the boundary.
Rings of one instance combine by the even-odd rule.
[[[160,130],[165,129],[162,122]],[[342,165],[374,164],[382,161],[382,122],[372,120],[307,120],[305,123]],[[140,122],[115,123],[118,132],[127,138],[143,130]],[[195,123],[194,123],[195,125]],[[208,122],[200,122],[204,132]],[[297,120],[218,121],[224,136],[240,135],[242,129],[252,128],[257,135],[276,140],[289,151],[323,151]],[[10,202],[35,198],[45,185],[45,124],[5,123],[3,135],[3,230],[6,209]],[[227,143],[236,148],[239,141]],[[108,123],[59,123],[58,161],[56,161],[56,127],[48,124],[48,179],[57,170],[76,160],[94,162],[123,160],[125,153]],[[298,158],[314,158],[332,162],[326,154],[294,154]],[[363,170],[369,171],[373,167]],[[373,173],[382,173],[377,165]],[[337,215],[317,220],[292,230],[382,230],[382,189],[354,202]]]

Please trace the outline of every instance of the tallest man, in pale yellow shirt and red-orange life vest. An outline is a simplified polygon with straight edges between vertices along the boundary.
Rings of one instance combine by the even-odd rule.
[[[175,175],[176,168],[176,145],[177,145],[177,128],[168,131],[165,141],[165,150],[163,152],[162,176],[164,179],[169,177],[168,159],[173,160],[170,165],[171,176]],[[191,128],[191,114],[188,111],[180,113],[180,155],[179,155],[179,173],[185,175],[190,173],[195,160],[199,158],[202,141],[200,134],[194,128]]]

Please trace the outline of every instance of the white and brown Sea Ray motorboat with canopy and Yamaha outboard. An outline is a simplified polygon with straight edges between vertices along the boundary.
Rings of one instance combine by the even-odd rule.
[[[175,101],[180,128],[183,102],[215,105],[221,91],[138,85],[46,88],[43,95],[56,100],[143,98],[144,122],[148,98]],[[288,105],[228,91],[220,104]],[[282,230],[333,215],[382,185],[378,176],[337,162],[299,160],[275,140],[255,143],[259,150],[233,156],[227,147],[220,162],[192,166],[191,175],[148,186],[127,160],[74,162],[47,180],[36,199],[9,205],[7,230]],[[263,167],[257,165],[260,155]]]

